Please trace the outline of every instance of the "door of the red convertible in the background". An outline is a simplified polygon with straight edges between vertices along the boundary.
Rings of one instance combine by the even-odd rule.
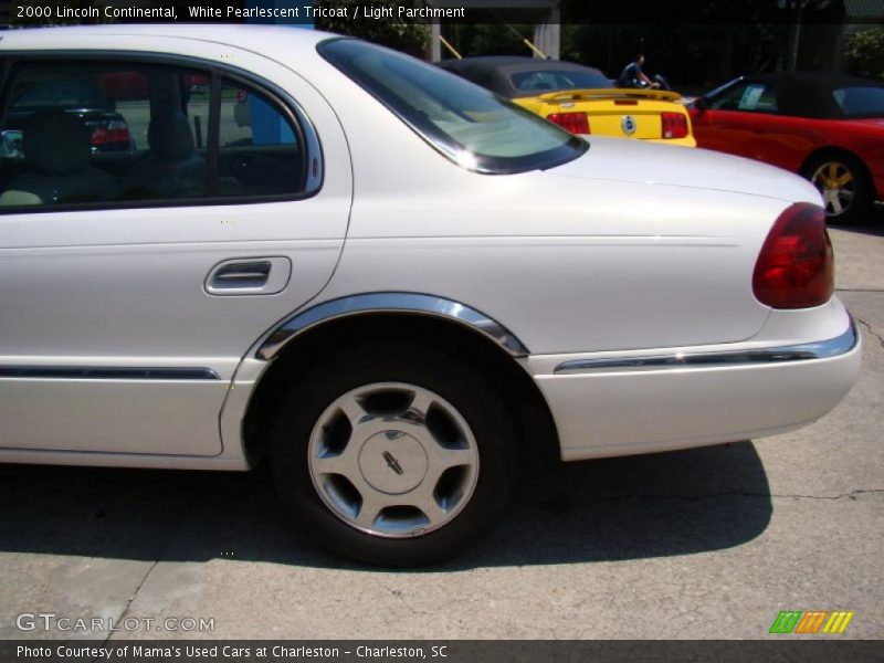
[[[777,95],[760,81],[741,81],[692,113],[697,145],[750,159],[767,160],[777,131]]]

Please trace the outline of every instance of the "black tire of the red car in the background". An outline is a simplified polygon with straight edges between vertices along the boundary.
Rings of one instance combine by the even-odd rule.
[[[852,199],[846,206],[843,202],[839,203],[841,211],[827,199],[827,191],[830,189],[827,185],[830,179],[828,176],[832,172],[842,178],[845,175],[849,177],[844,188],[852,192]],[[872,179],[869,177],[869,170],[857,158],[846,152],[823,152],[812,157],[801,169],[801,175],[823,196],[827,222],[848,225],[871,217],[874,202]]]

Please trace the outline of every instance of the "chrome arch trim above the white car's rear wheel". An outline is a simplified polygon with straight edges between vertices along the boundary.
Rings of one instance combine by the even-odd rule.
[[[255,356],[272,359],[294,337],[322,323],[364,313],[411,313],[448,318],[478,332],[513,357],[528,349],[497,320],[459,302],[418,293],[364,293],[317,304],[283,322],[265,336]]]

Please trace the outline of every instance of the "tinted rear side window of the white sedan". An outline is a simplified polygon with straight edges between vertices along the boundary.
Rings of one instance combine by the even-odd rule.
[[[294,118],[196,67],[18,63],[0,102],[0,212],[297,196],[307,150]]]

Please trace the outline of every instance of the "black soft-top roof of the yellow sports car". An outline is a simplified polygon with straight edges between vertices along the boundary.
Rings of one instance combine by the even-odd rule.
[[[436,64],[508,98],[537,95],[536,91],[517,90],[513,85],[509,76],[523,72],[585,72],[607,80],[600,70],[591,66],[564,60],[540,60],[520,55],[481,55],[462,60],[443,60]]]

